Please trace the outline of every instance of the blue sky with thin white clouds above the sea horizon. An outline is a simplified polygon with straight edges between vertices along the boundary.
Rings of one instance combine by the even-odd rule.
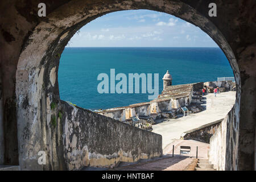
[[[199,27],[150,10],[106,14],[86,24],[68,47],[218,47]]]

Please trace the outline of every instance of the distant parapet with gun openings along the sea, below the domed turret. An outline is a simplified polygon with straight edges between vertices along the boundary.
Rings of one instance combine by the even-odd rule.
[[[164,111],[179,114],[181,112],[180,107],[188,106],[191,102],[199,102],[193,98],[193,92],[201,90],[203,86],[203,82],[168,86],[158,98],[150,102],[105,109],[96,113],[122,122],[126,122],[127,119],[135,115],[150,116],[153,119],[171,117],[171,114],[166,114]]]

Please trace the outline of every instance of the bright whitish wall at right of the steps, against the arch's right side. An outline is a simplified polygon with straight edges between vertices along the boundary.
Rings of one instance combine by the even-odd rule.
[[[217,170],[237,170],[238,132],[236,105],[229,111],[210,138],[209,162]]]

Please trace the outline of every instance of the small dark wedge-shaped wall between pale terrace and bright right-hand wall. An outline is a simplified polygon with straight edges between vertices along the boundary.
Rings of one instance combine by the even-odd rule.
[[[218,121],[214,121],[196,129],[186,131],[181,134],[180,138],[184,140],[191,139],[199,142],[210,143],[210,138],[216,132],[222,120],[223,119],[219,119]]]

